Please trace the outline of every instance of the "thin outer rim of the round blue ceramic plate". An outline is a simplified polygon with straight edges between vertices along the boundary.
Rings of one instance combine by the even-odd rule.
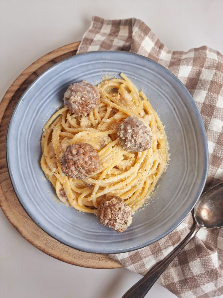
[[[134,247],[131,247],[131,248],[127,248],[127,249],[112,249],[112,250],[108,250],[108,251],[105,251],[105,252],[102,252],[102,251],[95,251],[95,249],[84,249],[84,248],[81,248],[79,247],[78,245],[73,245],[73,246],[70,246],[68,245],[67,243],[64,243],[62,242],[61,240],[57,239],[56,237],[54,237],[52,234],[50,234],[49,232],[47,232],[46,229],[44,229],[43,227],[40,226],[40,224],[38,224],[38,221],[35,220],[34,216],[32,216],[32,214],[29,214],[29,210],[28,208],[26,208],[26,205],[22,203],[22,199],[21,199],[21,196],[19,194],[19,191],[16,189],[16,183],[15,183],[15,180],[14,180],[14,177],[13,177],[13,173],[12,173],[12,170],[10,169],[10,165],[9,165],[9,133],[10,133],[10,129],[11,129],[11,126],[12,126],[12,122],[13,122],[13,119],[15,117],[15,113],[16,111],[18,110],[18,107],[21,103],[21,101],[23,100],[23,97],[29,92],[29,90],[34,86],[34,84],[40,80],[40,78],[46,73],[46,72],[50,72],[51,69],[53,69],[54,67],[58,66],[59,64],[63,63],[64,61],[66,60],[70,60],[72,58],[76,58],[78,57],[79,55],[83,56],[83,55],[89,55],[89,54],[92,54],[92,53],[105,53],[105,52],[109,52],[109,53],[117,53],[118,55],[121,53],[121,54],[127,54],[127,55],[133,55],[133,56],[139,56],[140,58],[142,59],[145,59],[145,60],[149,60],[151,63],[155,63],[158,65],[158,67],[161,67],[163,69],[164,72],[167,72],[169,75],[171,75],[172,77],[174,77],[174,79],[177,79],[178,83],[180,83],[181,87],[184,89],[185,93],[187,94],[187,97],[190,98],[190,103],[191,105],[193,105],[193,108],[196,110],[197,114],[198,114],[198,122],[201,126],[201,131],[202,131],[202,140],[204,141],[204,144],[205,146],[203,147],[203,153],[204,153],[204,157],[205,157],[205,163],[203,164],[204,168],[203,168],[203,173],[202,173],[202,180],[199,184],[199,195],[198,197],[196,198],[196,200],[194,200],[193,204],[188,208],[189,209],[189,212],[188,210],[186,210],[184,212],[184,214],[182,215],[182,217],[180,218],[180,222],[177,223],[177,224],[173,224],[171,226],[171,228],[167,231],[167,232],[164,232],[162,233],[162,235],[159,235],[155,238],[153,238],[152,240],[150,241],[146,241],[142,244],[139,244],[137,246],[134,246]],[[98,54],[97,54],[98,55]],[[202,120],[202,116],[200,114],[200,111],[195,103],[195,100],[193,99],[192,95],[190,94],[190,92],[188,91],[188,89],[186,88],[186,86],[179,80],[178,77],[176,77],[172,72],[170,72],[167,68],[165,68],[164,66],[162,66],[160,63],[150,59],[150,58],[147,58],[143,55],[139,55],[139,54],[136,54],[136,53],[132,53],[132,52],[127,52],[127,51],[109,51],[109,50],[105,50],[105,51],[91,51],[91,52],[86,52],[86,53],[82,53],[82,54],[77,54],[77,55],[72,55],[68,58],[65,58],[57,63],[55,63],[54,65],[52,65],[51,67],[49,67],[48,69],[46,69],[43,73],[41,73],[27,88],[26,90],[22,93],[21,97],[19,98],[18,102],[16,103],[15,105],[15,108],[10,116],[10,120],[9,120],[9,125],[7,127],[7,134],[6,134],[6,146],[5,146],[5,149],[6,149],[6,163],[7,163],[7,168],[8,168],[8,172],[9,172],[9,177],[10,177],[10,181],[12,183],[12,187],[13,187],[13,190],[15,192],[15,195],[16,197],[18,198],[18,201],[20,202],[21,206],[23,207],[23,209],[25,210],[25,212],[27,213],[27,215],[34,221],[35,224],[37,224],[37,226],[40,227],[40,229],[42,229],[45,233],[47,233],[49,236],[51,236],[52,238],[54,238],[55,240],[59,241],[60,243],[63,243],[64,245],[66,246],[69,246],[71,248],[74,248],[74,249],[77,249],[79,251],[82,251],[82,252],[87,252],[87,253],[102,253],[102,254],[116,254],[116,253],[123,253],[123,252],[130,252],[130,251],[134,251],[134,250],[137,250],[137,249],[141,249],[141,248],[144,248],[145,246],[148,246],[158,240],[160,240],[161,238],[167,236],[170,232],[172,232],[175,228],[177,228],[177,226],[179,226],[182,221],[189,215],[189,213],[191,212],[191,210],[194,208],[194,205],[197,203],[197,200],[200,198],[200,195],[202,194],[202,191],[205,187],[205,182],[206,182],[206,179],[207,179],[207,175],[208,175],[208,143],[207,143],[207,136],[206,136],[206,131],[205,131],[205,126],[204,126],[204,122]],[[186,214],[186,215],[185,215]]]

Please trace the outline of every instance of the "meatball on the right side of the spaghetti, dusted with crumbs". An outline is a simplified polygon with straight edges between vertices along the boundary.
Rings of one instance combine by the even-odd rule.
[[[127,117],[118,127],[118,136],[122,148],[125,151],[145,151],[151,147],[152,137],[139,118]]]

